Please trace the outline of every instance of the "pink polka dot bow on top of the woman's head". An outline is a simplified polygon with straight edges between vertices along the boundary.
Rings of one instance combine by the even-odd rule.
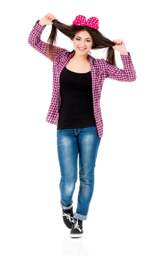
[[[92,29],[99,29],[98,26],[98,18],[96,17],[90,17],[87,21],[86,21],[86,17],[83,15],[77,15],[75,17],[75,20],[73,21],[73,25],[75,26],[89,26]]]

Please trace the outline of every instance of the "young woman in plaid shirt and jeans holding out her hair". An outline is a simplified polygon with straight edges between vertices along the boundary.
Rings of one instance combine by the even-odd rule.
[[[71,230],[70,237],[83,236],[83,220],[87,219],[94,190],[94,170],[103,136],[100,97],[106,78],[132,82],[136,73],[124,40],[109,40],[98,30],[98,18],[86,21],[77,15],[71,25],[47,13],[30,32],[28,43],[53,63],[53,90],[46,122],[57,125],[57,148],[60,164],[60,205],[63,222]],[[47,43],[40,40],[46,25],[52,25]],[[57,29],[70,38],[72,52],[54,45]],[[90,49],[107,48],[106,60],[95,59]],[[114,49],[121,55],[124,70],[116,67]],[[73,193],[79,179],[78,206],[73,213]]]

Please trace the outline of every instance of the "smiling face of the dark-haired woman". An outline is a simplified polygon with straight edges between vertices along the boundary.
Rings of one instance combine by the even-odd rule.
[[[77,32],[72,41],[75,51],[80,55],[88,55],[89,50],[94,45],[91,35],[86,30]],[[86,49],[81,50],[78,47]]]

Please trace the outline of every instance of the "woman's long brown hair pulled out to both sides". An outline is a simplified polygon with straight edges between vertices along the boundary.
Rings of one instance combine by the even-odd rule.
[[[76,33],[79,31],[86,30],[89,32],[89,34],[92,36],[94,45],[91,49],[102,49],[107,48],[106,51],[106,61],[109,62],[109,64],[116,66],[115,61],[115,50],[112,48],[112,46],[115,46],[115,43],[112,42],[110,39],[106,38],[98,29],[93,29],[89,26],[75,26],[73,24],[64,24],[61,23],[58,20],[52,20],[52,29],[51,33],[49,35],[49,38],[47,40],[46,49],[47,53],[50,56],[51,61],[52,60],[52,50],[54,45],[56,45],[56,39],[57,39],[57,29],[60,30],[61,33],[66,35],[71,40],[75,37]],[[91,52],[88,52],[91,55]]]

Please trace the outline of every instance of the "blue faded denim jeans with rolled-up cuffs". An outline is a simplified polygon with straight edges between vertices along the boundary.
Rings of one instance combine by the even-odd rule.
[[[70,209],[75,183],[79,179],[78,206],[74,218],[86,220],[89,204],[92,199],[95,181],[95,162],[101,137],[98,137],[96,126],[57,130],[57,148],[60,165],[60,205]]]

